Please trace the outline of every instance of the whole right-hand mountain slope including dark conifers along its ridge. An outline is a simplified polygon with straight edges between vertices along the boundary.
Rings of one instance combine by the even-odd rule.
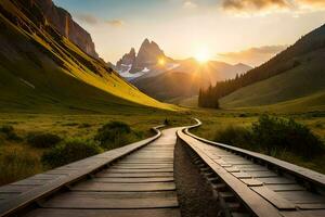
[[[261,66],[237,79],[218,84],[212,91],[221,97],[222,107],[276,104],[282,108],[324,110],[324,60],[325,25]]]

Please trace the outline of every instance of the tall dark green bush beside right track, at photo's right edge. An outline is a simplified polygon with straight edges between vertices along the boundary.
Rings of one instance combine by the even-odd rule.
[[[263,115],[252,124],[252,143],[268,154],[281,150],[304,157],[324,154],[324,144],[310,129],[294,119]]]

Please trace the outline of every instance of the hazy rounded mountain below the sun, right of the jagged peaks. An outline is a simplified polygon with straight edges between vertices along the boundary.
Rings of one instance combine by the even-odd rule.
[[[174,61],[174,65],[172,69],[155,75],[147,74],[131,82],[155,99],[179,101],[197,95],[202,87],[207,88],[217,80],[234,78],[251,68],[244,64],[230,65],[217,61],[200,64],[194,59]]]

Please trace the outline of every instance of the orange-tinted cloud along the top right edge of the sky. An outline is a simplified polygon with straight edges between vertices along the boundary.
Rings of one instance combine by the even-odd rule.
[[[325,10],[324,0],[223,0],[224,11],[242,14],[265,14],[272,12],[310,12]]]

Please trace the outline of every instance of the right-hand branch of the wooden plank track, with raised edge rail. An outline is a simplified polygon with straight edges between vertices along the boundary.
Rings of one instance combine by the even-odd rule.
[[[179,142],[211,184],[224,216],[325,216],[325,176],[271,156],[179,130]]]

